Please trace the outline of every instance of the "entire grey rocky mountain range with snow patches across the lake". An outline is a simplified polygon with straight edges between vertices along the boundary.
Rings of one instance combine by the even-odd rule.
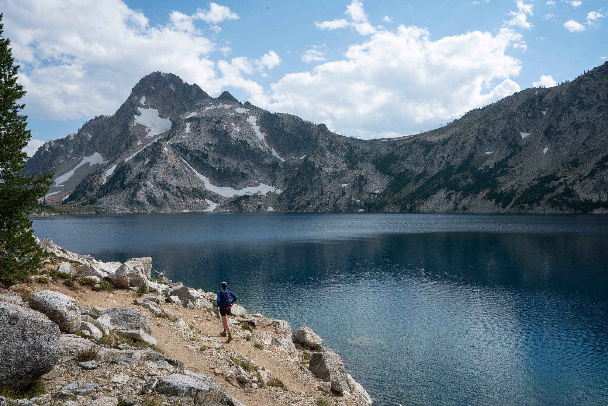
[[[606,211],[607,135],[608,63],[370,141],[155,72],[24,173],[55,172],[50,203],[106,212]]]

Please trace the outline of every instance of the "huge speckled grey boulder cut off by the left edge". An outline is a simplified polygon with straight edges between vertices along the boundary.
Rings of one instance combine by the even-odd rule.
[[[24,390],[59,358],[60,331],[45,315],[0,301],[0,387]]]

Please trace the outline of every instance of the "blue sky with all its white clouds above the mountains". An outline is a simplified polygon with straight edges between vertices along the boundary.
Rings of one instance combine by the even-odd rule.
[[[606,0],[0,0],[32,148],[173,72],[376,138],[426,131],[608,57]]]

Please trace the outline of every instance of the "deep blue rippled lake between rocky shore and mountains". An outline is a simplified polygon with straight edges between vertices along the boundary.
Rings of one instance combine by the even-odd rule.
[[[151,256],[309,326],[376,405],[608,404],[608,216],[34,217],[102,261]]]

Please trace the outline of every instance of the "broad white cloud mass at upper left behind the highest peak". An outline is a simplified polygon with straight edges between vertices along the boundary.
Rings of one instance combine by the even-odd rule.
[[[144,75],[173,72],[210,94],[226,86],[260,94],[246,75],[280,63],[270,51],[258,60],[212,60],[230,51],[202,35],[197,20],[220,23],[238,16],[215,3],[189,16],[173,12],[150,26],[121,0],[5,0],[4,28],[26,86],[26,113],[46,120],[112,113]],[[95,18],[91,18],[95,16]]]

